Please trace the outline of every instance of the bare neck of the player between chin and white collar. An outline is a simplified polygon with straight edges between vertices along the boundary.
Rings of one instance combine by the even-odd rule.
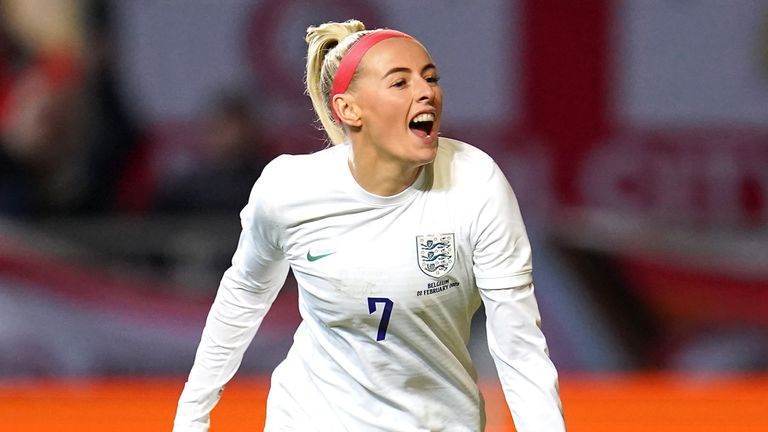
[[[421,165],[383,159],[354,143],[348,164],[357,184],[367,192],[379,196],[397,195],[408,189],[421,171]]]

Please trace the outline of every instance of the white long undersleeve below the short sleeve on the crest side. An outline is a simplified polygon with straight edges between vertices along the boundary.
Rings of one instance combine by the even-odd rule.
[[[488,348],[520,432],[565,431],[557,371],[540,328],[533,284],[481,289]]]

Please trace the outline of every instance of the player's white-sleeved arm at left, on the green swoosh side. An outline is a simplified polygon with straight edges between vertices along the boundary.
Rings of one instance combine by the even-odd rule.
[[[207,431],[209,415],[232,378],[277,297],[288,262],[277,246],[279,231],[256,183],[241,213],[243,230],[232,266],[224,273],[203,329],[195,362],[179,398],[174,432]],[[254,203],[259,203],[255,205]]]

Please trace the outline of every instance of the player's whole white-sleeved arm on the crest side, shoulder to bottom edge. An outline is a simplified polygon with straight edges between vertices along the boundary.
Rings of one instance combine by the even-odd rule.
[[[474,273],[487,315],[488,347],[520,432],[565,430],[557,371],[533,289],[531,245],[512,188],[492,165],[476,194]]]

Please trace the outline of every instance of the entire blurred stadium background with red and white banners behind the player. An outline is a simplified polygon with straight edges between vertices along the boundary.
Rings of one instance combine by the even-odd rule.
[[[579,393],[595,383],[659,389],[647,402],[693,382],[680,400],[711,402],[746,380],[717,404],[747,419],[727,430],[768,422],[743,411],[768,404],[760,0],[0,0],[0,401],[159,379],[170,425],[253,182],[326,145],[306,27],[350,17],[422,41],[443,135],[507,174],[571,430],[602,430],[579,423],[615,400]],[[239,376],[266,385],[296,298],[289,276]],[[471,348],[492,382],[482,320]],[[622,430],[647,417],[624,413]]]

